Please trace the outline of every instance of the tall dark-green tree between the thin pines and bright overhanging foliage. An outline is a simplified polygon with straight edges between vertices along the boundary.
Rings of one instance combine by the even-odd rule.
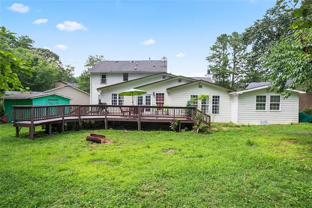
[[[255,21],[243,33],[246,44],[252,47],[251,53],[247,57],[248,73],[245,78],[247,83],[265,79],[269,70],[261,65],[263,58],[270,53],[270,49],[281,36],[293,33],[289,25],[297,18],[289,12],[285,12],[284,5],[285,3],[276,5],[267,10],[262,20]]]

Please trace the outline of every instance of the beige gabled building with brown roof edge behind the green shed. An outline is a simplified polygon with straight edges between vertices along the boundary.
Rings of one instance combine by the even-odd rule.
[[[57,93],[71,98],[70,104],[90,104],[90,94],[77,88],[73,83],[58,81],[55,87],[40,93]]]

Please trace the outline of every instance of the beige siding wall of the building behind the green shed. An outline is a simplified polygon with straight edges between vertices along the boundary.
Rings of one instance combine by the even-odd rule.
[[[69,104],[89,104],[90,96],[87,93],[81,92],[71,86],[63,86],[57,89],[49,90],[49,93],[53,92],[73,99],[69,102]]]

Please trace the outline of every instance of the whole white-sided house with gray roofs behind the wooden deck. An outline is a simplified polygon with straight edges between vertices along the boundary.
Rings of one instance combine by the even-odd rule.
[[[145,106],[182,107],[192,98],[206,94],[209,100],[191,104],[210,115],[212,122],[253,125],[299,122],[299,98],[306,94],[303,91],[291,90],[291,96],[283,99],[269,90],[270,82],[251,83],[237,91],[213,83],[209,70],[205,77],[190,78],[167,73],[166,64],[163,61],[98,63],[90,70],[91,103],[132,105],[131,97],[118,95],[130,88],[147,92],[134,97],[135,105]]]

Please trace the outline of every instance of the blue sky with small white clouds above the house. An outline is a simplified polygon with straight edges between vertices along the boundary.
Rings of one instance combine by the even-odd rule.
[[[207,74],[221,34],[242,33],[276,0],[1,0],[0,26],[48,48],[78,77],[89,56],[167,58],[168,73]]]

